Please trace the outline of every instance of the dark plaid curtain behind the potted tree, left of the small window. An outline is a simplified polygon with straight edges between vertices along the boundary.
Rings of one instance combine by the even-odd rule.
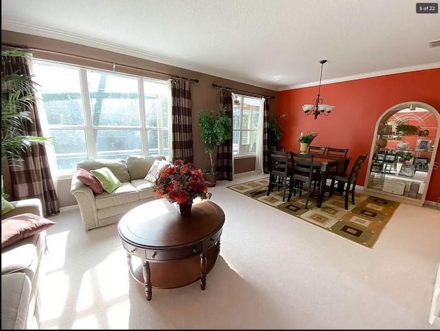
[[[226,108],[226,115],[232,118],[232,92],[220,89],[220,109]],[[217,148],[217,180],[232,180],[232,137]]]

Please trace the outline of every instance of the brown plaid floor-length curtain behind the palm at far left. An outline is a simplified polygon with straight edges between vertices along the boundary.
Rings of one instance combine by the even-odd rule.
[[[5,74],[30,75],[27,60],[14,56],[2,63]],[[39,112],[36,103],[30,109],[32,122],[23,122],[22,134],[25,136],[43,137]],[[28,153],[21,153],[20,161],[8,161],[12,184],[12,200],[23,200],[37,197],[43,204],[44,215],[60,212],[60,203],[56,195],[54,182],[50,173],[49,160],[44,145],[35,144]]]

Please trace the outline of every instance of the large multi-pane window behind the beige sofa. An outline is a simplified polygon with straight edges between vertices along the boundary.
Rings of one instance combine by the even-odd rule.
[[[169,156],[166,81],[36,59],[32,68],[60,173],[87,158]]]

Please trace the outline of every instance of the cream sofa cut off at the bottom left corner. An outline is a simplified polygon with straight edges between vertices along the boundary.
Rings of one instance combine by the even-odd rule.
[[[11,202],[8,217],[32,213],[42,216],[39,199]],[[3,226],[2,226],[3,227]],[[1,329],[38,329],[40,325],[40,287],[45,275],[46,231],[20,239],[1,249]]]

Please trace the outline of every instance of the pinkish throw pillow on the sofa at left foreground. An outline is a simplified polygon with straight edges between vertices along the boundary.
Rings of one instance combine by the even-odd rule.
[[[1,248],[19,240],[36,235],[56,224],[47,218],[31,213],[24,213],[1,220]]]

